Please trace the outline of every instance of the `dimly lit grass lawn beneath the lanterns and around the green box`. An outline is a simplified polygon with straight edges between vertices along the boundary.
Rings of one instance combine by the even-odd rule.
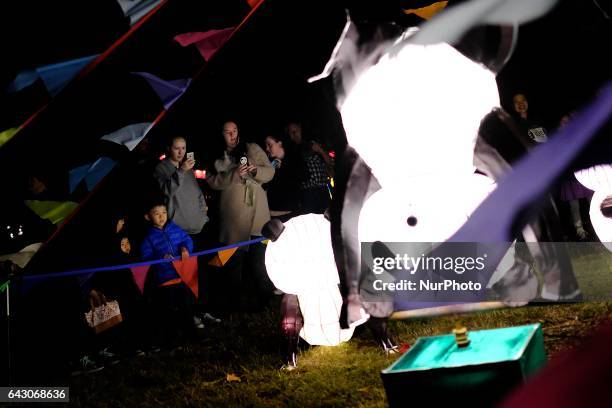
[[[612,255],[600,247],[573,248],[574,267],[589,298],[609,291]],[[610,297],[607,297],[610,299]],[[72,404],[83,407],[384,407],[380,371],[386,356],[365,328],[337,347],[304,346],[299,368],[280,371],[283,339],[278,301],[261,313],[241,313],[216,327],[204,341],[176,356],[133,358],[70,384]],[[541,323],[549,359],[581,343],[593,327],[612,317],[612,303],[585,302],[497,309],[468,315],[391,321],[400,344],[449,333],[457,319],[469,330]],[[232,375],[235,377],[228,377]],[[233,379],[233,380],[232,380]]]

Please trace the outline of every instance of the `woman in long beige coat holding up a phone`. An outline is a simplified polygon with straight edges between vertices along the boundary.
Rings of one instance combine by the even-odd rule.
[[[238,126],[223,124],[225,151],[215,161],[217,174],[208,184],[221,190],[219,241],[232,244],[260,236],[270,220],[268,198],[261,188],[272,180],[274,168],[266,153],[255,143],[240,143]]]

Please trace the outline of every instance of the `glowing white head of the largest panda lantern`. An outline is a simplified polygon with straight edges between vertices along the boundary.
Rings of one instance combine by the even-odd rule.
[[[406,44],[369,68],[341,108],[351,146],[383,188],[467,175],[482,118],[499,106],[495,75],[448,44]]]

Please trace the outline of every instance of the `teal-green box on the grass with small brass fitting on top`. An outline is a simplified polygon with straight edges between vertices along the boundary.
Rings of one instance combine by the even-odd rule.
[[[452,334],[419,338],[381,372],[389,405],[493,406],[546,363],[540,324],[473,331],[468,338],[464,348]]]

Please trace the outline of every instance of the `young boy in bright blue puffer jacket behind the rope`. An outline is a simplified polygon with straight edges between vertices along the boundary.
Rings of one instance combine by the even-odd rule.
[[[163,201],[154,201],[145,214],[151,227],[145,234],[140,253],[145,261],[173,258],[181,255],[183,260],[193,250],[191,237],[172,221]],[[178,332],[194,326],[203,329],[201,320],[194,316],[195,298],[183,283],[171,262],[151,267],[153,288],[152,300],[161,323],[161,336],[165,346],[173,347]]]

